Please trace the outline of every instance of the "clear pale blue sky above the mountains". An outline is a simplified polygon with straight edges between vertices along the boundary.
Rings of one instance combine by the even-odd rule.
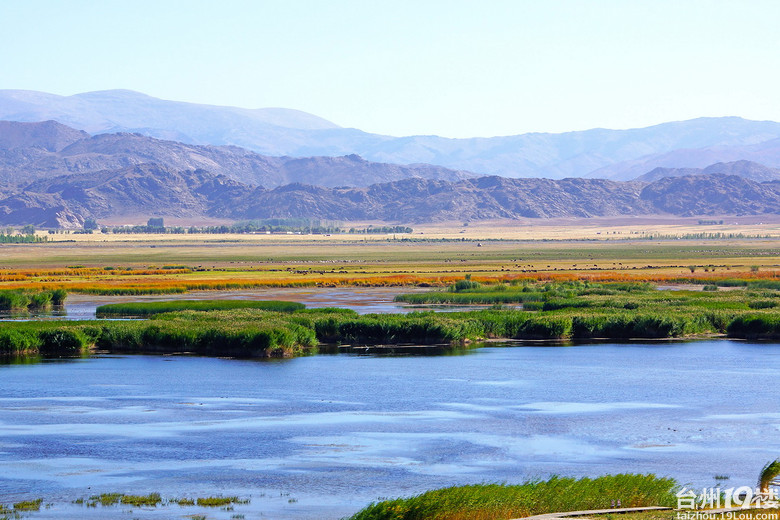
[[[390,135],[780,121],[776,0],[0,0],[0,88]]]

